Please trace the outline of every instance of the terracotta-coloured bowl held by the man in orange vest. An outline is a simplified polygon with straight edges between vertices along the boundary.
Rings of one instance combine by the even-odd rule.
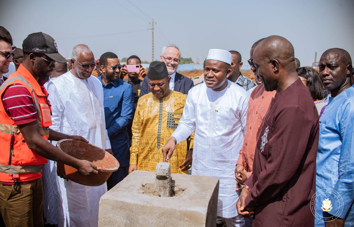
[[[112,172],[118,170],[119,162],[115,157],[98,146],[78,140],[62,139],[57,148],[80,160],[87,160],[95,164],[98,175],[84,176],[76,168],[57,162],[59,172],[70,181],[87,186],[99,186],[107,181]]]

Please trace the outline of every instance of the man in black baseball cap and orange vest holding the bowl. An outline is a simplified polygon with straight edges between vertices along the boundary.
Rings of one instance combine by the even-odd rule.
[[[22,64],[0,87],[0,212],[5,226],[43,226],[41,170],[47,159],[73,166],[83,175],[98,171],[92,162],[75,159],[48,142],[49,137],[88,142],[49,129],[51,109],[43,85],[55,62],[66,62],[54,39],[41,32],[30,34],[23,41],[23,54]]]

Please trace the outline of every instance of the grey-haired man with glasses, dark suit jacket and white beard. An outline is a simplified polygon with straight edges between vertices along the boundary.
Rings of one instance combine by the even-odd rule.
[[[181,61],[181,52],[176,45],[167,45],[162,48],[160,61],[165,62],[167,71],[169,72],[170,89],[183,94],[188,94],[188,91],[194,86],[193,81],[188,77],[176,72],[178,63]],[[144,78],[141,85],[139,97],[150,92],[148,77]]]

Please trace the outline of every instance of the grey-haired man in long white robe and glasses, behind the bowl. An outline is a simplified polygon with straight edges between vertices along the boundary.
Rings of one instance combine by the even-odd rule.
[[[52,104],[51,128],[78,134],[112,154],[103,107],[101,82],[91,76],[95,57],[87,45],[74,46],[73,69],[48,83]],[[58,226],[97,226],[98,203],[107,184],[91,187],[57,178]],[[80,202],[78,202],[80,201]]]

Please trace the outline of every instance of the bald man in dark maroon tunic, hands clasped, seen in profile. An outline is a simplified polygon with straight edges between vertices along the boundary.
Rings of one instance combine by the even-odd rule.
[[[270,36],[253,52],[264,90],[276,90],[258,136],[253,174],[236,208],[253,217],[253,226],[313,226],[318,112],[297,77],[294,49],[283,37]]]

